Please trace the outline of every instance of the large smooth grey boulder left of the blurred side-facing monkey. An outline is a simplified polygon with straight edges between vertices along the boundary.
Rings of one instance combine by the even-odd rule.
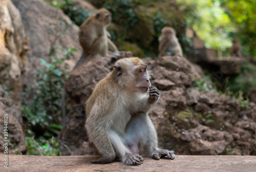
[[[24,82],[26,82],[26,87],[34,88],[36,74],[33,71],[42,68],[39,58],[49,61],[50,48],[56,37],[54,28],[58,28],[57,32],[67,30],[68,34],[62,34],[54,46],[59,47],[57,52],[60,49],[76,48],[79,52],[74,53],[72,60],[75,63],[81,56],[79,28],[72,24],[70,18],[62,10],[53,8],[43,0],[12,0],[12,2],[22,14],[24,28],[29,37],[30,49],[26,54],[29,59],[29,69]],[[63,26],[63,23],[70,26]],[[63,55],[59,53],[59,56]]]

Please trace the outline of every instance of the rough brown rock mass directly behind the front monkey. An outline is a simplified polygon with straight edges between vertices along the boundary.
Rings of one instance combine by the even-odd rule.
[[[127,54],[131,55],[121,52],[118,58]],[[67,115],[67,127],[59,138],[72,155],[97,154],[82,129],[83,107],[95,84],[112,70],[115,60],[100,56],[87,58],[65,84],[73,106]],[[253,109],[242,112],[239,103],[230,97],[196,90],[193,83],[198,72],[184,57],[144,58],[143,61],[151,71],[152,87],[157,87],[161,95],[149,116],[163,148],[174,149],[178,155],[251,155],[256,151]],[[61,153],[71,154],[65,146]]]

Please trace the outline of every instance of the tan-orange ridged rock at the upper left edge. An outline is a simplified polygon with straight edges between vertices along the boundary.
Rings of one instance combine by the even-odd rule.
[[[18,89],[25,70],[26,34],[20,13],[11,0],[0,2],[0,13],[0,83],[9,90]]]

